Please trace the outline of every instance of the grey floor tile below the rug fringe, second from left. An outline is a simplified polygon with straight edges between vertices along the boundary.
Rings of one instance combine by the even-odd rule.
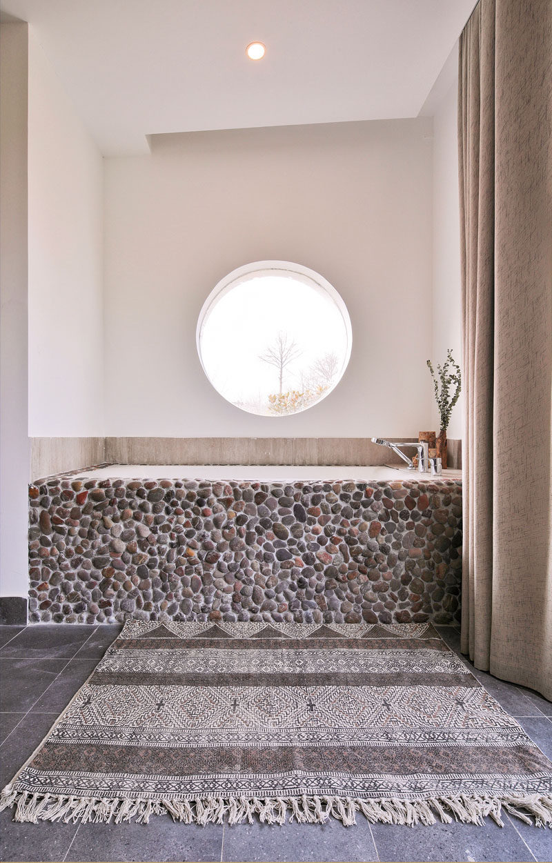
[[[221,824],[174,823],[152,816],[149,824],[81,824],[67,860],[204,860],[219,863]],[[30,859],[30,858],[29,858]],[[33,858],[36,860],[36,858]]]

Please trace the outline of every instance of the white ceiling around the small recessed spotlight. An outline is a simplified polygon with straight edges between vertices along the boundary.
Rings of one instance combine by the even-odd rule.
[[[146,135],[416,117],[474,0],[1,0],[106,155]],[[263,41],[253,62],[245,46]]]

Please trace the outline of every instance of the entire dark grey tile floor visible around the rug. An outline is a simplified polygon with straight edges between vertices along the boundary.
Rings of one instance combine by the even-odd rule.
[[[460,633],[438,627],[454,651]],[[0,787],[29,758],[60,711],[85,682],[117,635],[119,627],[0,627]],[[537,746],[552,759],[552,703],[531,690],[473,673],[504,709],[516,716]],[[485,827],[435,824],[432,827],[356,827],[256,823],[174,824],[169,816],[141,824],[16,824],[0,815],[1,860],[552,860],[552,830],[527,827],[505,818]]]

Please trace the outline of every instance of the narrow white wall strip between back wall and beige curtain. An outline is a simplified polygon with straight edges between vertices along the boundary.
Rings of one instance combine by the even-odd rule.
[[[433,160],[433,352],[443,362],[447,349],[461,363],[460,331],[460,204],[458,185],[457,80],[434,109]],[[435,363],[434,363],[435,365]],[[454,406],[447,435],[462,437],[463,396]],[[434,402],[433,425],[439,428]]]

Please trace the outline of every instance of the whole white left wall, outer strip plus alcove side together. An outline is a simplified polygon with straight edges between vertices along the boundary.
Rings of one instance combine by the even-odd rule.
[[[28,592],[29,436],[103,417],[103,159],[27,24],[1,28],[0,594]]]

